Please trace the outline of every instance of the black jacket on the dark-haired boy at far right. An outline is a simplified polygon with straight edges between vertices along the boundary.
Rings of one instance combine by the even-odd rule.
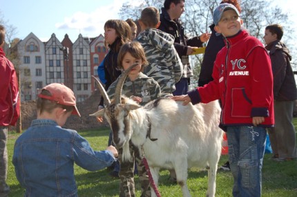
[[[291,55],[287,46],[280,40],[276,40],[265,48],[269,50],[272,72],[274,73],[274,100],[296,100],[296,82],[290,64]]]

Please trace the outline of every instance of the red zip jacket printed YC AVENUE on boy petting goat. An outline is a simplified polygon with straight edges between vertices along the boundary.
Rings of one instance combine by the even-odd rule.
[[[252,117],[265,117],[259,126],[274,125],[271,62],[267,50],[245,30],[225,39],[213,68],[213,81],[189,92],[192,103],[222,101],[221,126],[249,126]]]

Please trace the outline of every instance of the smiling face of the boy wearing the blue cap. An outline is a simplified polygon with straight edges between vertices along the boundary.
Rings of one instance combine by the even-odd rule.
[[[215,26],[215,31],[221,33],[224,37],[236,35],[242,26],[242,20],[234,10],[226,10],[222,14],[222,18]]]

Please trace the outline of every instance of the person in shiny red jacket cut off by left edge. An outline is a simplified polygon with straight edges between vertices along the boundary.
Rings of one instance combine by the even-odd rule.
[[[0,196],[6,197],[8,173],[8,126],[15,126],[19,118],[19,86],[12,63],[6,58],[2,47],[5,44],[5,28],[0,25]]]

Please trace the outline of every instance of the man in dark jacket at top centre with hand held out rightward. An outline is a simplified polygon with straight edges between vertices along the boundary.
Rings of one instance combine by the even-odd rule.
[[[182,79],[175,84],[176,90],[173,95],[184,95],[188,91],[188,83],[190,77],[193,77],[193,71],[189,63],[189,55],[193,53],[195,48],[201,47],[205,41],[209,40],[210,34],[204,33],[200,37],[188,39],[184,35],[184,28],[179,19],[184,12],[185,0],[165,0],[164,8],[160,15],[161,24],[159,30],[167,32],[174,37],[174,47],[182,60],[184,66]]]

